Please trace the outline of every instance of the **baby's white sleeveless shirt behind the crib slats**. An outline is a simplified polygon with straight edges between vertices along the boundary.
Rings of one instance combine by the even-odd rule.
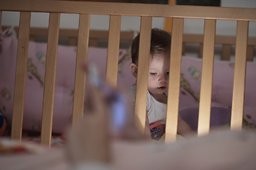
[[[132,96],[133,101],[135,102],[135,96],[136,96],[136,88],[137,84],[133,84],[129,88],[129,92]],[[167,95],[167,93],[165,92]],[[146,111],[149,118],[149,124],[154,123],[156,121],[159,121],[161,123],[166,123],[166,107],[167,105],[165,103],[160,103],[159,101],[156,101],[156,99],[147,91],[146,95]]]

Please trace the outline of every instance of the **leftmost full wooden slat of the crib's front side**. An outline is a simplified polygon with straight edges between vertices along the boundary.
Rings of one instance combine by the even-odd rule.
[[[11,140],[21,141],[31,12],[20,13]]]

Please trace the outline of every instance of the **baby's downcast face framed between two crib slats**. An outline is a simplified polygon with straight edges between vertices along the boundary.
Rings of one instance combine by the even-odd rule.
[[[169,82],[169,54],[154,54],[149,61],[148,91],[154,96],[164,94]]]

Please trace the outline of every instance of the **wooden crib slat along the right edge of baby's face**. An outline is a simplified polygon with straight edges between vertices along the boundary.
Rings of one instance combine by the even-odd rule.
[[[166,142],[176,140],[178,125],[178,98],[181,79],[181,55],[183,39],[183,18],[173,18],[171,33],[171,60],[169,90],[166,111]]]

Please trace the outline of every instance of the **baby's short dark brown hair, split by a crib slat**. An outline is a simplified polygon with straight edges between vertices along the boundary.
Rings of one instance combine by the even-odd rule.
[[[139,35],[132,42],[132,62],[137,64],[139,57]],[[171,35],[159,28],[151,29],[150,54],[166,53],[171,50]]]

